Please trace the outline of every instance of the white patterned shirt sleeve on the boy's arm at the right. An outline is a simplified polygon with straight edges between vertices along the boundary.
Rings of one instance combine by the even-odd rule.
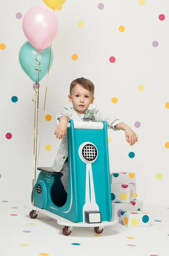
[[[109,125],[114,131],[120,131],[119,129],[115,128],[115,125],[118,125],[121,120],[110,115],[103,115],[99,109],[93,111],[93,115],[96,119],[96,122],[102,122],[105,121],[107,122],[107,125]]]

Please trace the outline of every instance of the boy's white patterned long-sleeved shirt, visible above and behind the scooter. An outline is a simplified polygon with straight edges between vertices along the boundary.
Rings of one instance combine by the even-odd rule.
[[[81,121],[84,122],[83,118],[90,117],[93,119],[92,122],[102,122],[106,121],[107,125],[109,125],[114,131],[119,131],[115,128],[115,125],[118,125],[121,121],[113,116],[110,115],[103,115],[98,108],[93,108],[91,110],[87,110],[84,114],[79,114],[76,112],[74,108],[63,107],[61,110],[60,115],[56,116],[57,121],[61,116],[68,116],[68,122],[70,119],[73,121]],[[68,157],[68,142],[67,142],[67,135],[63,137],[62,142],[60,143],[59,150],[57,152],[56,158],[54,160],[52,169],[55,172],[60,172],[66,158]]]

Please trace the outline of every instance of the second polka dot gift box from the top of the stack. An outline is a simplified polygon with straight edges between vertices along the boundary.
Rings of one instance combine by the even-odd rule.
[[[136,198],[136,183],[110,184],[113,202],[130,203]]]

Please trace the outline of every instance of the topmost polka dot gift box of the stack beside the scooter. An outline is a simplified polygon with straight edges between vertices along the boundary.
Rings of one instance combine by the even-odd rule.
[[[112,184],[135,183],[135,173],[132,172],[112,172],[110,174]]]

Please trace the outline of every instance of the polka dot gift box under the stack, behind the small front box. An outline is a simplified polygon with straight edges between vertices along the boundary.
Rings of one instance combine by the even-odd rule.
[[[120,223],[121,211],[143,211],[143,200],[134,200],[130,203],[112,202],[112,221]]]

